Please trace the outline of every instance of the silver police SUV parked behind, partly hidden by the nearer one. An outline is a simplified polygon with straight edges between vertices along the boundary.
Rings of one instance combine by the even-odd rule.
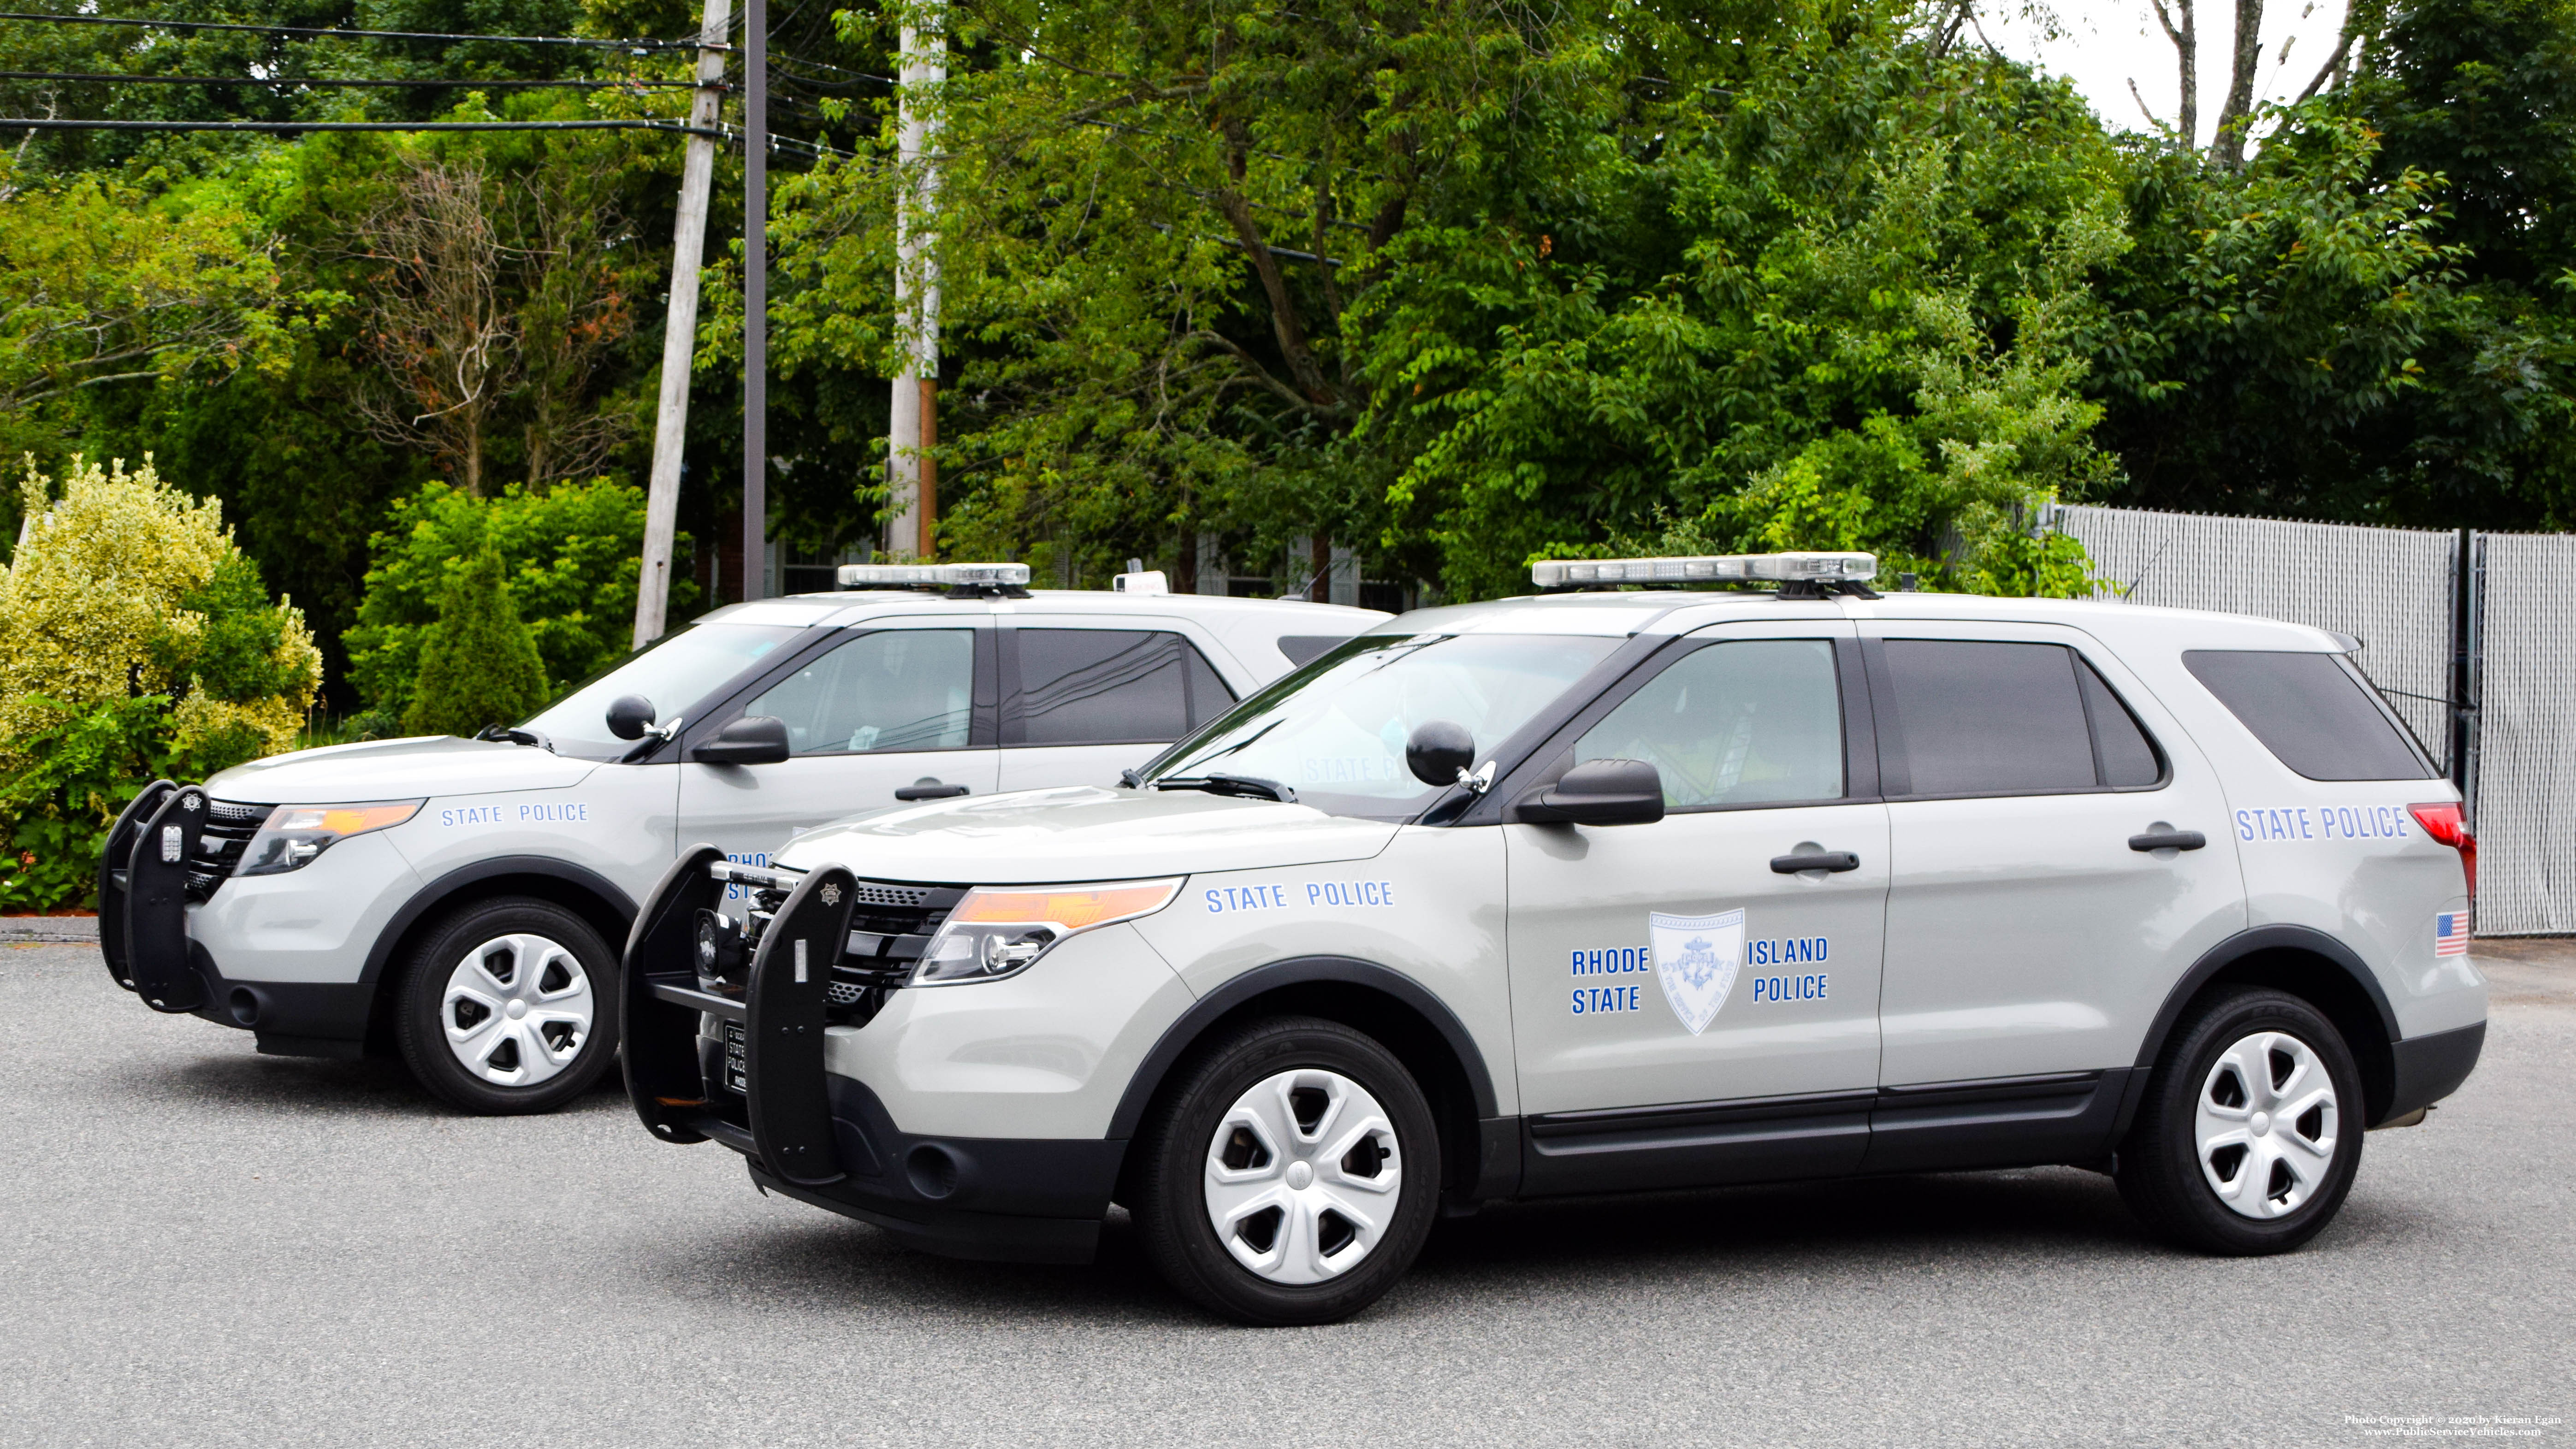
[[[616,1060],[618,942],[683,842],[760,865],[899,800],[1110,782],[1386,620],[1025,582],[850,566],[850,592],[714,610],[489,739],[162,780],[100,860],[108,970],[263,1053],[374,1042],[459,1107],[544,1112]]]

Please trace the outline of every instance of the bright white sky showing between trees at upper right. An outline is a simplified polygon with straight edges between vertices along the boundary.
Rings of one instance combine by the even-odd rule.
[[[2200,134],[2195,144],[2205,147],[2218,108],[2228,98],[2236,5],[2233,0],[2197,0],[2195,13],[2200,18]],[[2148,0],[2053,0],[2048,5],[1986,0],[1978,5],[1978,23],[1999,51],[2074,80],[2110,126],[2151,131],[2148,113],[2156,124],[2174,124],[2174,100],[2182,90],[2174,44],[2164,39]],[[2344,0],[2264,0],[2262,69],[2254,72],[2257,100],[2298,98],[2316,69],[2326,64],[2342,26]],[[2138,88],[2136,95],[2130,95],[2130,82]],[[2138,108],[2141,98],[2146,111]]]

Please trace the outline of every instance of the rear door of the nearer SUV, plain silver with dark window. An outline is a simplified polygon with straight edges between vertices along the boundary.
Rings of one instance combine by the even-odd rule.
[[[2166,991],[2244,929],[2218,777],[2079,631],[1865,623],[1862,654],[1893,860],[1878,1024],[1896,1104],[1870,1166],[1914,1166],[1906,1132],[1932,1150],[1978,1094],[2081,1135]],[[2146,849],[2179,831],[2202,844]],[[2056,1096],[2030,1099],[2032,1078],[2061,1078]]]

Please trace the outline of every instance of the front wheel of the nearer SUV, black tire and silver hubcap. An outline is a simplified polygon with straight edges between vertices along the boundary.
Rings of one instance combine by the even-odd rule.
[[[1146,1256],[1239,1323],[1360,1313],[1412,1266],[1440,1199],[1440,1132],[1412,1073],[1314,1017],[1200,1053],[1136,1150]]]

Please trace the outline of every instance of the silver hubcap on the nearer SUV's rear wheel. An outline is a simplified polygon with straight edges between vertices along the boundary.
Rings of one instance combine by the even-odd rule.
[[[2334,1078],[2293,1035],[2239,1040],[2200,1084],[2200,1176],[2244,1217],[2280,1217],[2316,1197],[2334,1130]]]

